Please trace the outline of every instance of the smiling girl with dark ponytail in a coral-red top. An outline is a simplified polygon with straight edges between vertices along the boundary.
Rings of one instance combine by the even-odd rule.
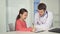
[[[16,27],[15,30],[16,31],[28,31],[28,32],[32,32],[32,28],[27,28],[25,19],[28,15],[28,11],[24,8],[20,9],[19,14],[16,18]]]

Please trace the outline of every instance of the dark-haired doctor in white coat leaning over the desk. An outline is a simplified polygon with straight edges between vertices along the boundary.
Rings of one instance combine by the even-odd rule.
[[[48,30],[52,25],[53,14],[46,10],[46,5],[40,3],[38,5],[38,12],[35,13],[34,27],[36,31]]]

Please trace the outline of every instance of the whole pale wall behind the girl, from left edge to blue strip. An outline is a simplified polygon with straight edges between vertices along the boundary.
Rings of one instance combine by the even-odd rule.
[[[6,32],[9,23],[15,24],[20,8],[28,10],[28,27],[33,23],[33,0],[0,0],[0,32]]]

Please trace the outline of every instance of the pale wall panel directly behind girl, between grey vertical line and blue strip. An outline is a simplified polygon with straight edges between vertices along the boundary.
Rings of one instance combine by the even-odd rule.
[[[16,17],[18,15],[18,12],[21,8],[25,8],[28,10],[28,18],[26,19],[27,27],[31,26],[31,23],[33,23],[33,1],[32,0],[8,0],[7,1],[7,11],[8,11],[8,23],[15,24]],[[7,26],[8,27],[8,26]],[[7,28],[8,29],[8,28]],[[9,30],[9,29],[8,29]]]

